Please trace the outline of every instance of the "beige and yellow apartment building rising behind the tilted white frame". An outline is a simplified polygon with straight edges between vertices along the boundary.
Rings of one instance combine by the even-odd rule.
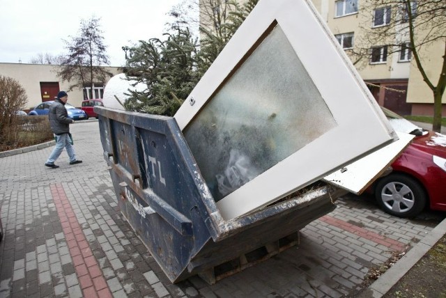
[[[245,3],[247,0],[239,0]],[[265,0],[263,0],[265,1]],[[295,0],[303,1],[303,0]],[[224,1],[222,1],[224,2]],[[312,0],[344,52],[366,82],[378,103],[402,115],[433,115],[433,93],[424,82],[408,48],[406,26],[394,29],[387,42],[380,41],[367,47],[367,39],[374,30],[389,26],[398,13],[389,6],[376,6],[374,0]],[[200,8],[210,3],[200,1]],[[417,1],[412,1],[416,11]],[[203,17],[203,14],[201,14]],[[296,16],[298,17],[298,16]],[[200,19],[206,24],[206,20]],[[445,29],[446,30],[446,29]],[[394,45],[391,47],[390,45]],[[431,80],[436,83],[440,75],[445,41],[438,40],[422,52],[422,61]],[[435,77],[437,75],[437,77]],[[443,114],[446,114],[446,95],[443,95]]]

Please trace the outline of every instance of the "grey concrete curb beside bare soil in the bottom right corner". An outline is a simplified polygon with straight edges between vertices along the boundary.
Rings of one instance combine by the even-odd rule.
[[[380,298],[385,295],[412,268],[438,240],[446,234],[446,219],[443,219],[431,233],[410,249],[401,260],[390,267],[383,275],[362,292],[360,298]]]

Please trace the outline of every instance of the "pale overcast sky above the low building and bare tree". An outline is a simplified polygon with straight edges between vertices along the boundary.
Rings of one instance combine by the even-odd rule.
[[[112,66],[125,63],[121,47],[161,38],[166,13],[180,0],[0,0],[0,63],[29,63],[38,54],[66,53],[81,19],[100,17]]]

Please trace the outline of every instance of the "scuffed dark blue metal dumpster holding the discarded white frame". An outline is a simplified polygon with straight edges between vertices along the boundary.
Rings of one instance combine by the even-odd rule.
[[[212,284],[297,244],[344,193],[319,185],[226,221],[174,118],[95,111],[121,212],[172,282],[199,274]]]

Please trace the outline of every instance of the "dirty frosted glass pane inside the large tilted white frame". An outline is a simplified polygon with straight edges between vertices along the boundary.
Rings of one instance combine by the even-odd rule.
[[[220,201],[336,125],[277,25],[183,134]]]

